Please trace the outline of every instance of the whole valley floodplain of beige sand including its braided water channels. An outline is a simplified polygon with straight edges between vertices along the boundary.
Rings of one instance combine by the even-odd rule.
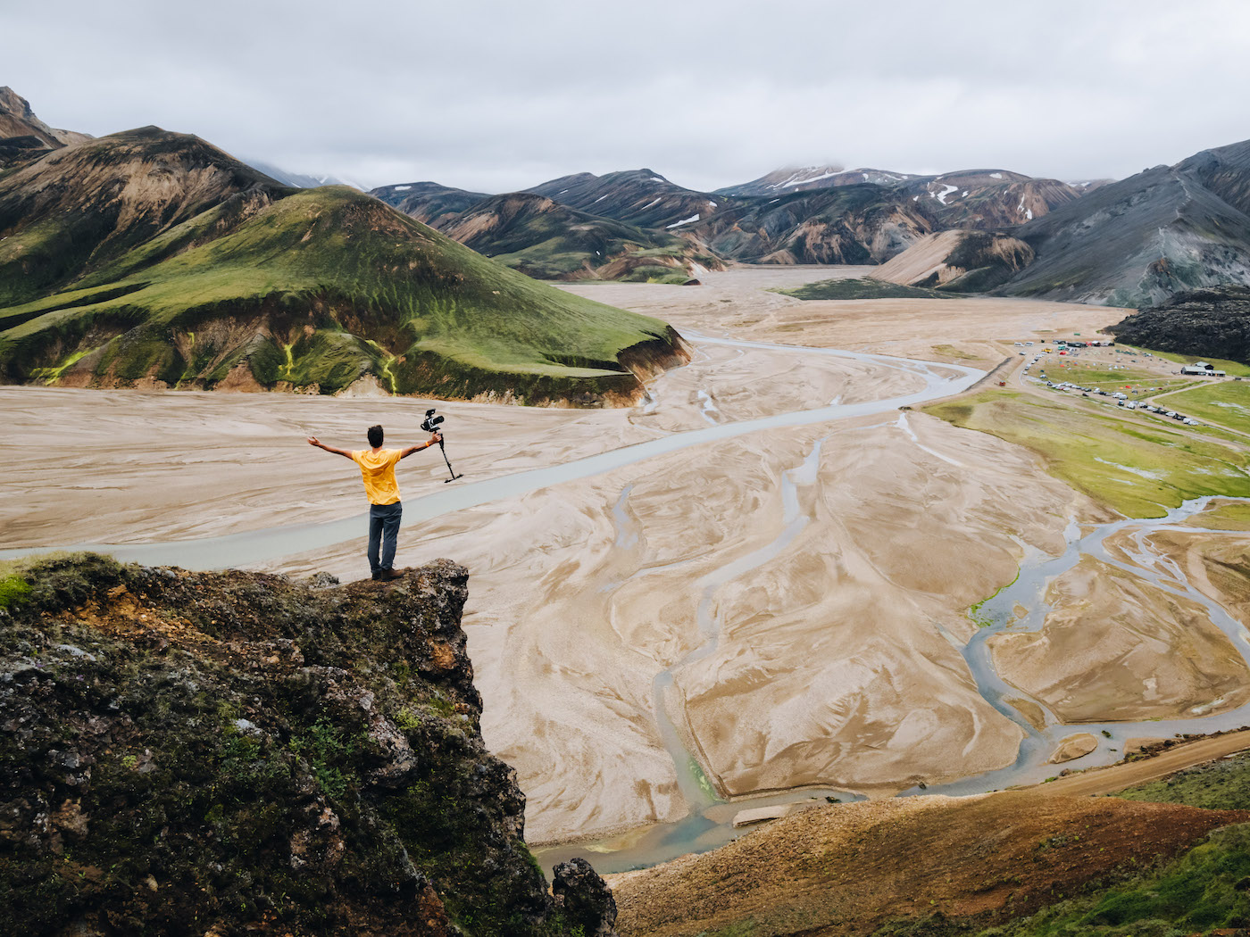
[[[1002,680],[996,660],[996,642],[1058,613],[1056,581],[1098,561],[1199,608],[1245,673],[1242,622],[1185,571],[1161,571],[1166,557],[1149,536],[1189,531],[1205,502],[1119,518],[1018,446],[899,412],[981,375],[922,360],[925,349],[969,350],[989,366],[1002,345],[988,336],[1010,347],[1025,335],[1094,331],[1116,311],[946,301],[938,326],[922,301],[880,301],[876,319],[898,326],[886,331],[864,304],[762,291],[829,275],[572,287],[674,321],[696,361],[659,379],[634,411],[438,405],[469,477],[442,486],[441,465],[411,470],[401,556],[451,556],[471,571],[465,627],[488,743],[519,770],[528,838],[580,838],[544,851],[544,865],[570,853],[604,871],[654,863],[725,842],[745,807],[800,796],[1042,780],[1055,773],[1045,765],[1055,743],[1078,731],[1100,745],[1072,767],[1114,761],[1132,736],[1250,721],[1232,693],[1186,700],[1175,720],[1062,725],[1044,680],[1031,696]],[[800,337],[855,351],[795,347]],[[301,437],[321,427],[350,445],[375,415],[415,425],[424,406],[0,389],[18,437],[36,449],[58,445],[39,439],[40,421],[68,439],[78,421],[114,442],[160,449],[170,434],[182,446],[164,465],[108,454],[90,472],[71,462],[54,503],[40,500],[36,466],[6,445],[6,493],[30,496],[20,523],[4,518],[20,533],[6,552],[126,541],[108,548],[149,563],[356,577],[359,482],[309,461]],[[215,442],[196,450],[198,436]],[[258,445],[272,447],[271,470],[290,468],[289,488],[248,472]],[[166,478],[186,505],[176,521],[152,488]],[[275,526],[275,505],[300,523]],[[968,611],[988,595],[982,628]],[[1201,696],[1201,680],[1191,691]],[[1149,695],[1118,692],[1130,703]]]

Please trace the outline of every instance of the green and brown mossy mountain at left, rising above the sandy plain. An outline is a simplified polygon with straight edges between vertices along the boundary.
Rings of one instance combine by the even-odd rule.
[[[156,127],[0,175],[0,380],[631,402],[655,319],[508,270],[346,186]]]

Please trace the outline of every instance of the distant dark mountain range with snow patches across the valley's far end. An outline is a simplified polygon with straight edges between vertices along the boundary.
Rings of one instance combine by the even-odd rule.
[[[1066,182],[1008,170],[916,176],[840,166],[776,170],[715,192],[686,189],[651,169],[576,172],[525,192],[584,212],[576,220],[568,219],[582,231],[588,225],[604,230],[612,229],[612,222],[632,226],[630,237],[636,249],[614,257],[621,262],[601,262],[604,255],[595,254],[596,247],[584,251],[580,264],[571,264],[570,247],[559,265],[528,265],[524,255],[551,250],[555,221],[550,216],[532,231],[512,221],[506,252],[480,241],[470,246],[479,249],[481,244],[488,255],[548,279],[642,279],[638,271],[648,270],[648,279],[664,281],[676,280],[676,272],[640,265],[636,261],[641,257],[626,257],[652,254],[662,265],[678,257],[681,270],[691,276],[718,269],[722,261],[881,264],[934,231],[1014,227],[1081,196]],[[460,221],[468,212],[479,212],[489,199],[436,182],[381,186],[372,195],[458,240],[480,230],[480,219]],[[665,236],[679,236],[688,247],[674,252],[665,247],[670,244]],[[662,259],[665,254],[669,259]]]

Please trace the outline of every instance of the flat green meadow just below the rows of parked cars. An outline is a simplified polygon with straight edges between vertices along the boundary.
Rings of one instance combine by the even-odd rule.
[[[1165,426],[999,389],[925,411],[1029,449],[1056,478],[1126,517],[1161,517],[1201,495],[1250,497],[1250,457]]]

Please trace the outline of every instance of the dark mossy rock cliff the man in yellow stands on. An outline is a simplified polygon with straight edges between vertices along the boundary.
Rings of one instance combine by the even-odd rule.
[[[572,931],[478,728],[465,570],[324,580],[0,575],[6,928]]]

